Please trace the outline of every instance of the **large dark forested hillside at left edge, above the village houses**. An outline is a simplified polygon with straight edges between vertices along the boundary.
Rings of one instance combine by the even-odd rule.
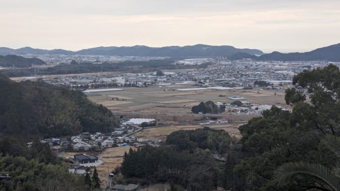
[[[110,132],[117,119],[79,91],[0,74],[0,133],[44,137]]]

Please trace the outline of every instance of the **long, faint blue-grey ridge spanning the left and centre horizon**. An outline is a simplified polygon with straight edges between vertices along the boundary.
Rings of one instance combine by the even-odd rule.
[[[214,56],[231,56],[238,52],[250,55],[262,55],[263,52],[258,49],[238,49],[233,46],[210,46],[197,44],[193,46],[166,46],[160,48],[148,46],[110,46],[83,49],[76,52],[63,49],[44,50],[24,47],[11,49],[0,47],[0,55],[9,54],[34,54],[34,55],[104,55],[104,56],[152,56],[152,57],[214,57]]]

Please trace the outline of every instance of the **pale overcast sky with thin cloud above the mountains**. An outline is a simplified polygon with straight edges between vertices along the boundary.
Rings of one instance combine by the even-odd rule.
[[[340,43],[340,0],[1,0],[0,46],[232,45],[265,52]]]

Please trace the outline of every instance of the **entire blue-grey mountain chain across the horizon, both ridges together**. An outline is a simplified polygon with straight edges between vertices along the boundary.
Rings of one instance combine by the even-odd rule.
[[[210,46],[196,44],[193,46],[165,46],[160,48],[148,47],[143,45],[136,46],[110,46],[95,47],[79,51],[68,51],[63,49],[34,49],[24,47],[11,49],[0,47],[0,55],[103,55],[103,56],[152,56],[152,57],[218,57],[227,56],[231,60],[251,58],[262,61],[340,61],[340,43],[327,47],[315,49],[304,53],[280,53],[272,52],[264,54],[258,49],[238,49],[233,46]],[[256,57],[257,55],[258,57]]]

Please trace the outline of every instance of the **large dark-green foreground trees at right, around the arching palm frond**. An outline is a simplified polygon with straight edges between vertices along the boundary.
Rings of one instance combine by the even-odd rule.
[[[248,157],[234,168],[240,190],[309,190],[325,188],[299,176],[277,188],[274,171],[287,162],[318,163],[332,168],[335,154],[321,141],[325,134],[339,135],[339,68],[305,70],[296,75],[296,88],[287,89],[285,100],[292,112],[272,107],[263,117],[239,127],[242,150]],[[308,99],[304,90],[307,90]]]

